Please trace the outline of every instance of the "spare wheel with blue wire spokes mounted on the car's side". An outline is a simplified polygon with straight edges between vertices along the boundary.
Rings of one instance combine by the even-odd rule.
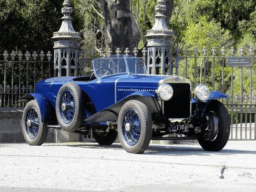
[[[62,85],[56,99],[56,116],[60,127],[68,132],[79,129],[84,115],[83,109],[80,87],[73,82]]]

